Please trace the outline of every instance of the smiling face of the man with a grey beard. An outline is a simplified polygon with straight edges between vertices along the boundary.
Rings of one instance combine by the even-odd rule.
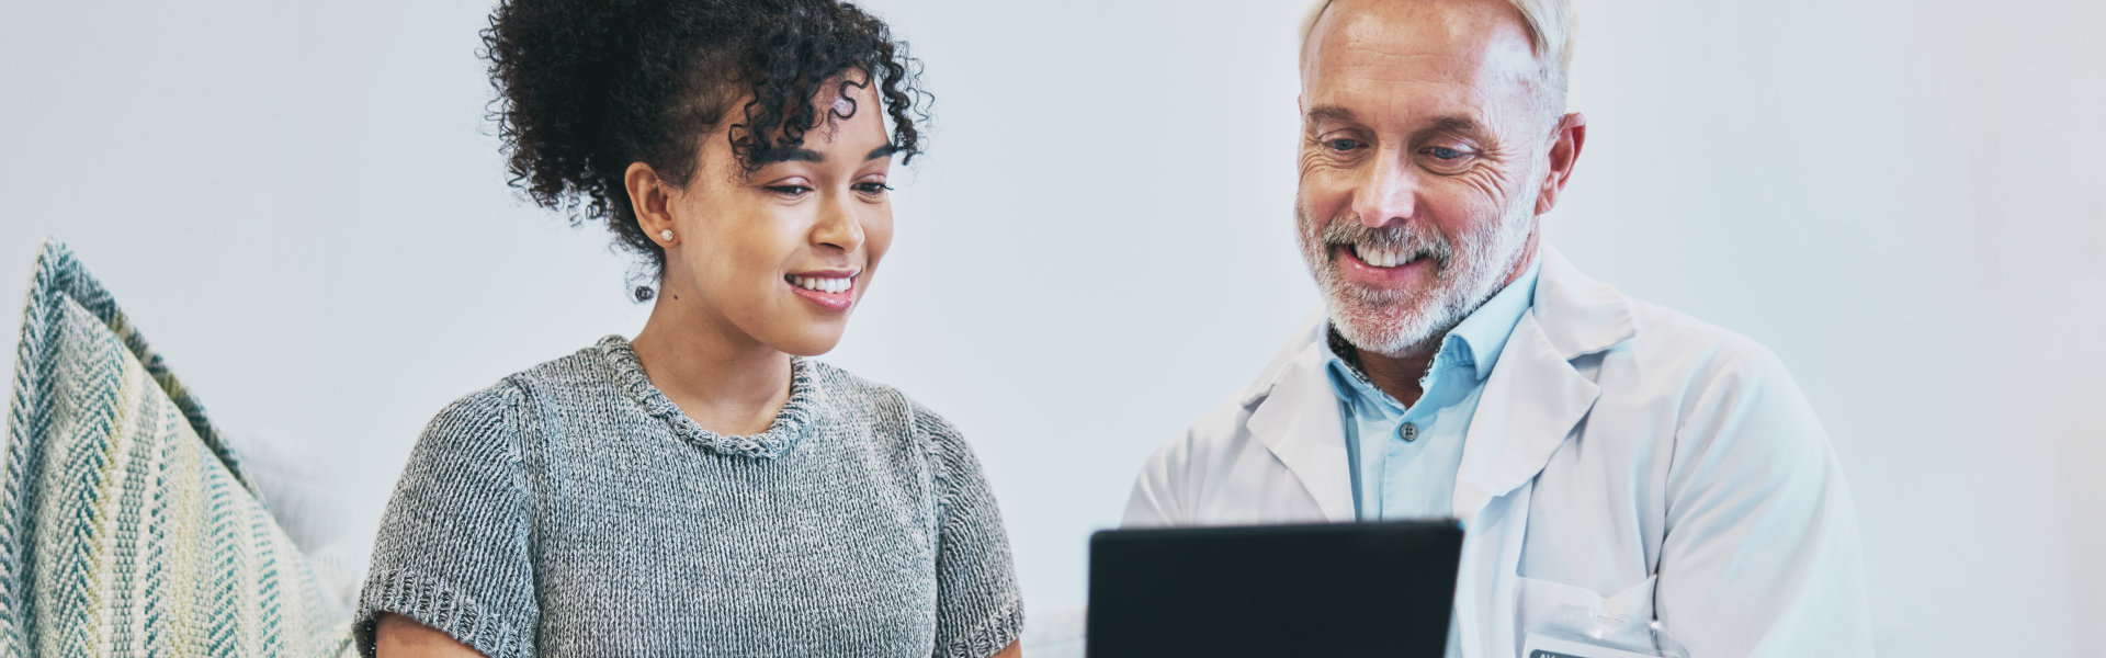
[[[1558,114],[1499,0],[1339,0],[1302,53],[1302,255],[1356,348],[1415,354],[1516,278]]]

